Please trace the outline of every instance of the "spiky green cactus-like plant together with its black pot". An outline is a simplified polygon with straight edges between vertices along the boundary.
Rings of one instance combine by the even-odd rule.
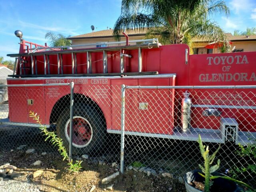
[[[209,146],[204,146],[202,144],[200,135],[198,138],[198,143],[200,153],[204,158],[204,166],[199,164],[200,170],[190,171],[184,175],[187,192],[236,192],[239,191],[236,183],[250,188],[250,186],[244,182],[240,182],[224,174],[216,172],[220,167],[219,159],[216,165],[211,166],[218,150],[220,149],[220,146],[212,155],[210,155]]]

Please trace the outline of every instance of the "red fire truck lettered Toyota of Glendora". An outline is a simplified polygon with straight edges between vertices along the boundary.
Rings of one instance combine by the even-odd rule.
[[[256,52],[234,52],[219,54],[190,55],[186,44],[164,45],[157,39],[126,42],[84,44],[61,47],[38,45],[20,38],[20,52],[8,54],[16,58],[14,74],[7,82],[12,84],[53,84],[74,82],[74,134],[73,145],[77,150],[90,151],[104,140],[105,134],[120,134],[121,85],[127,86],[248,86],[256,85]],[[115,46],[112,46],[112,45]],[[124,45],[122,45],[124,44]],[[129,45],[132,44],[132,45]],[[97,44],[98,45],[98,44]],[[116,46],[118,45],[118,46]],[[95,88],[100,94],[96,94]],[[108,88],[107,88],[108,87]],[[115,89],[112,89],[114,88]],[[116,89],[118,87],[118,89]],[[28,112],[40,115],[42,124],[57,124],[57,133],[63,140],[69,140],[68,116],[69,89],[54,86],[22,87],[18,98],[14,98],[16,87],[8,88],[9,119],[2,123],[34,126]],[[35,93],[39,89],[41,94]],[[182,90],[182,91],[180,91]],[[184,90],[184,91],[183,91]],[[191,93],[188,96],[185,91]],[[161,118],[152,115],[159,110],[143,110],[142,117],[153,122],[127,128],[126,134],[179,140],[202,140],[224,143],[226,140],[238,143],[249,142],[245,133],[255,137],[256,132],[256,89],[230,90],[207,89],[209,96],[227,100],[229,104],[212,103],[205,96],[205,89],[170,89],[170,107]],[[178,94],[175,94],[178,93]],[[185,96],[182,93],[185,92]],[[102,94],[104,96],[102,96]],[[180,99],[182,98],[183,99]],[[190,98],[191,97],[191,98]],[[102,99],[103,98],[103,99]],[[230,101],[231,98],[234,100]],[[128,99],[128,98],[127,98]],[[207,101],[207,102],[206,102]],[[246,102],[247,101],[247,102]],[[147,98],[130,98],[127,103],[135,110],[150,108]],[[188,105],[193,116],[179,117],[175,106]],[[217,105],[216,105],[217,104]],[[43,108],[38,108],[43,105]],[[175,105],[175,106],[174,106]],[[151,105],[152,106],[152,105]],[[129,106],[126,106],[128,109]],[[184,109],[185,110],[185,109]],[[184,111],[183,111],[184,112]],[[151,113],[151,115],[150,115]],[[208,114],[208,115],[207,115]],[[151,118],[151,119],[150,119]],[[152,118],[154,118],[152,120]],[[176,124],[178,118],[191,118],[191,128]],[[137,124],[141,118],[133,112],[126,113],[127,123]],[[132,119],[129,120],[129,119]],[[168,126],[160,127],[160,119]],[[76,125],[76,120],[80,124]],[[139,124],[139,123],[138,123]],[[145,127],[147,126],[147,127]],[[184,127],[182,127],[184,126]],[[231,138],[231,139],[230,139]]]

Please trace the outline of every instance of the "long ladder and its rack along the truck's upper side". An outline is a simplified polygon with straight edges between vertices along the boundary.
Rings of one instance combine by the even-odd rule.
[[[92,59],[91,59],[91,53],[92,52],[103,52],[103,73],[108,73],[108,59],[107,59],[107,52],[108,51],[119,51],[120,50],[120,73],[124,73],[124,57],[131,57],[128,54],[124,54],[124,50],[136,50],[138,49],[138,72],[142,72],[142,53],[141,49],[145,48],[159,48],[160,44],[158,43],[158,39],[147,39],[147,40],[132,40],[131,42],[139,42],[143,44],[136,44],[136,45],[126,45],[126,46],[109,46],[109,47],[101,47],[101,48],[80,48],[80,49],[72,49],[81,47],[81,46],[92,46],[92,45],[99,45],[99,44],[82,44],[82,45],[72,45],[72,46],[58,46],[58,47],[38,47],[38,48],[30,48],[29,50],[31,52],[21,53],[21,54],[8,54],[7,56],[10,57],[18,57],[19,58],[19,66],[20,66],[20,75],[26,75],[26,68],[25,68],[25,62],[22,58],[30,57],[31,60],[31,70],[32,75],[34,75],[34,67],[35,67],[35,76],[38,75],[37,70],[37,56],[44,56],[44,75],[47,75],[48,68],[48,75],[50,75],[50,62],[49,62],[49,55],[57,55],[57,66],[58,66],[58,75],[63,74],[63,54],[71,54],[72,58],[72,74],[77,74],[77,59],[76,54],[77,53],[86,53],[87,55],[87,74],[92,73]],[[109,42],[109,43],[102,43],[104,45],[110,45],[110,44],[122,44],[125,43],[123,41],[121,42]],[[68,49],[64,49],[68,48]],[[71,49],[70,49],[71,48]],[[14,71],[16,71],[15,66]],[[23,69],[23,73],[22,73]],[[17,76],[17,75],[13,75]]]

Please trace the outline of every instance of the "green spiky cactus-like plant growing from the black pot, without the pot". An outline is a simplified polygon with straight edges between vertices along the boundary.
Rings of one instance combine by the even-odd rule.
[[[217,162],[216,165],[210,167],[210,165],[212,164],[218,150],[220,150],[220,145],[219,145],[218,149],[212,155],[209,155],[209,152],[210,152],[209,146],[206,147],[206,150],[204,149],[205,146],[202,143],[202,139],[201,139],[200,134],[198,136],[198,143],[199,143],[200,152],[201,152],[201,154],[204,158],[204,167],[199,164],[199,167],[202,170],[202,172],[204,173],[204,175],[198,172],[198,174],[200,174],[202,177],[205,178],[204,192],[210,192],[210,186],[213,183],[212,180],[214,180],[216,178],[224,178],[224,179],[227,179],[227,180],[232,180],[232,181],[234,181],[238,184],[246,186],[250,191],[254,192],[254,189],[251,186],[249,186],[248,184],[246,184],[242,181],[236,180],[236,179],[228,177],[228,176],[212,176],[211,173],[217,171],[218,168],[220,167],[220,160],[219,159],[218,159],[218,162]],[[228,171],[228,170],[226,170],[226,171]]]

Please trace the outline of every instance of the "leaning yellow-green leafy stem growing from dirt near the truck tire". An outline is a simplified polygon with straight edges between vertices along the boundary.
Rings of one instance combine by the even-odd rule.
[[[78,172],[80,169],[82,169],[81,163],[82,161],[76,161],[76,163],[73,163],[73,160],[68,158],[68,153],[66,148],[63,145],[62,139],[59,138],[55,132],[50,132],[47,130],[46,126],[43,126],[40,120],[39,115],[34,114],[34,112],[30,111],[29,112],[29,117],[33,118],[34,120],[36,120],[36,122],[40,125],[39,129],[41,130],[41,133],[46,136],[46,140],[50,139],[50,142],[53,144],[53,146],[58,146],[58,152],[60,153],[60,155],[63,157],[63,161],[64,160],[68,160],[68,166],[69,166],[69,170],[72,172]]]

